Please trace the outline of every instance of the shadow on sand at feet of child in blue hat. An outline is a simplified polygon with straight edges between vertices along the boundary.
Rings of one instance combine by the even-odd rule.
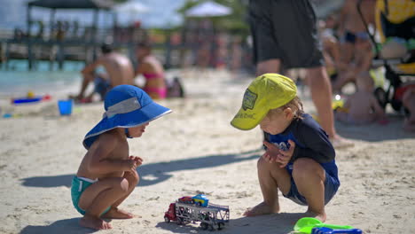
[[[48,226],[27,226],[20,231],[20,234],[42,234],[42,233],[60,233],[60,234],[83,234],[83,233],[93,233],[97,230],[91,230],[87,228],[82,228],[78,222],[80,218],[59,220],[57,222],[51,223]]]

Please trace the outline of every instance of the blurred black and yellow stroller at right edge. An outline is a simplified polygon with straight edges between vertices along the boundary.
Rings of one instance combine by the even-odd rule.
[[[373,43],[375,56],[372,65],[385,67],[385,78],[389,83],[386,88],[378,87],[374,94],[383,108],[390,104],[396,112],[408,113],[403,110],[402,98],[406,89],[415,86],[415,1],[377,0],[375,22],[379,32],[378,42],[364,20],[362,1],[357,2],[357,11]],[[391,44],[393,50],[390,50]],[[388,50],[395,54],[388,53]]]

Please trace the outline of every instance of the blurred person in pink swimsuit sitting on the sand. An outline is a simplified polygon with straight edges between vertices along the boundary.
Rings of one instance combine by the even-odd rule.
[[[145,77],[143,90],[154,99],[164,99],[168,95],[168,87],[164,77],[164,68],[161,62],[152,54],[149,43],[139,43],[137,48],[139,66],[136,71]]]

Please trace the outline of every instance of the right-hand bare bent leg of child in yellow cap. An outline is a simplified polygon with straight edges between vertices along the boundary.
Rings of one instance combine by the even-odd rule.
[[[293,178],[300,194],[309,204],[308,212],[325,222],[325,170],[315,160],[295,160]]]

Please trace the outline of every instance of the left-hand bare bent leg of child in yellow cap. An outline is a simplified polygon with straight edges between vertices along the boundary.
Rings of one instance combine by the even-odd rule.
[[[291,177],[286,168],[279,168],[276,163],[269,163],[262,157],[258,160],[258,179],[263,201],[249,208],[244,215],[256,216],[279,212],[278,189],[286,194],[291,188]]]

